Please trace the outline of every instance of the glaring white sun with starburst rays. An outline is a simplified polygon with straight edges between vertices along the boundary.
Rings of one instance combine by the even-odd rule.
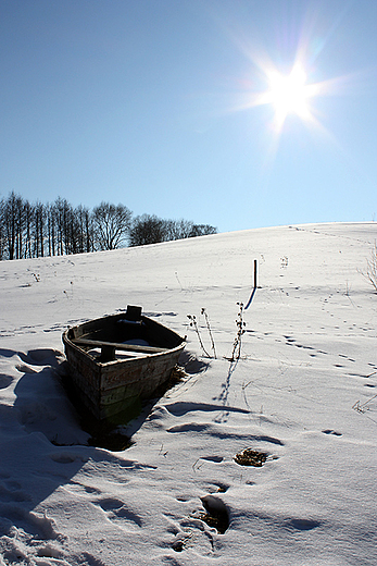
[[[339,76],[324,79],[326,69],[321,69],[317,59],[326,46],[326,39],[321,48],[314,49],[314,23],[315,20],[307,16],[302,28],[297,30],[296,49],[288,50],[282,46],[279,51],[273,46],[274,56],[257,39],[257,34],[250,38],[240,27],[237,32],[229,32],[235,46],[250,61],[249,71],[239,77],[243,91],[236,95],[229,110],[269,108],[272,112],[266,127],[274,134],[275,142],[281,136],[287,122],[292,121],[331,137],[325,127],[326,115],[321,112],[319,98],[340,95],[344,84],[352,78]]]

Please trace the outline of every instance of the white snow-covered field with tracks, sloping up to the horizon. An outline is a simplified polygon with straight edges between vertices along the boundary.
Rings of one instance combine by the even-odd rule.
[[[376,565],[376,238],[311,224],[0,262],[0,564]],[[187,335],[187,377],[110,452],[62,387],[61,333],[127,304]]]

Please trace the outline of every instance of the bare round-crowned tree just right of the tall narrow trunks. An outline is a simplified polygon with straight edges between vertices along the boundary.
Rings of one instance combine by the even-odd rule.
[[[98,249],[116,249],[124,244],[131,221],[127,207],[101,202],[93,209],[92,219]]]

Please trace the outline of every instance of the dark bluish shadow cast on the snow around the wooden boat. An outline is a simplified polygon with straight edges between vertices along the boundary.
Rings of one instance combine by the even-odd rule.
[[[96,466],[104,459],[125,469],[144,468],[124,456],[120,459],[112,452],[127,447],[130,439],[101,429],[83,414],[83,406],[70,399],[66,390],[67,362],[63,354],[51,348],[26,353],[0,349],[0,357],[8,358],[20,378],[2,374],[1,390],[13,387],[15,401],[9,405],[9,396],[0,403],[0,536],[9,534],[13,527],[22,529],[33,540],[59,538],[53,519],[42,515],[39,504],[60,485],[70,484],[79,470],[90,460]],[[128,434],[144,422],[153,405],[172,386],[185,386],[185,381],[205,371],[208,365],[194,355],[184,352],[178,360],[179,371],[153,398],[143,403],[138,419],[130,422]],[[73,402],[72,402],[73,401]],[[75,406],[76,405],[76,406]],[[97,434],[97,438],[96,438]],[[93,445],[106,448],[97,450]],[[22,454],[22,457],[20,455]],[[147,466],[149,467],[149,466]]]

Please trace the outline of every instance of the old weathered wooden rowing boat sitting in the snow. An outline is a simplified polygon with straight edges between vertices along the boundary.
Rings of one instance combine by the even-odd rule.
[[[186,345],[141,307],[72,327],[62,336],[75,393],[96,419],[127,422],[169,379]]]

